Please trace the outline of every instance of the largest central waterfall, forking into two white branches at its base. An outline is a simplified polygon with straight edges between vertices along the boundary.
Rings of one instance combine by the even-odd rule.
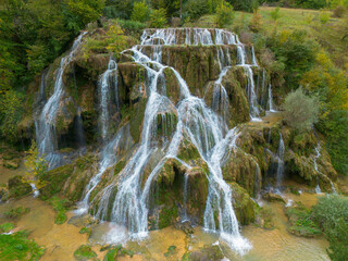
[[[181,39],[182,41],[185,40],[186,44],[189,42],[187,29],[146,29],[141,36],[141,45],[126,50],[132,53],[134,62],[147,72],[148,98],[142,121],[141,139],[136,152],[119,173],[117,179],[100,192],[101,198],[95,216],[105,220],[110,215],[111,221],[117,226],[127,227],[129,238],[146,237],[148,235],[148,206],[151,185],[167,159],[178,160],[176,154],[185,133],[198,149],[201,159],[209,166],[209,192],[203,216],[204,228],[209,232],[219,233],[221,238],[227,241],[232,248],[243,253],[251,246],[239,233],[238,221],[232,204],[232,189],[223,179],[221,170],[223,158],[228,154],[231,149],[236,147],[238,130],[234,128],[225,134],[226,123],[221,121],[221,117],[208,108],[202,99],[190,94],[179,73],[173,67],[161,64],[160,59],[154,59],[159,57],[158,52],[161,51],[161,48],[152,48],[151,50],[154,52],[152,55],[146,55],[141,52],[142,47],[147,45],[182,44],[176,39],[178,37],[176,33],[186,34],[187,37],[181,36]],[[213,45],[211,33],[208,29],[194,28],[191,33],[194,45]],[[179,85],[182,100],[177,104],[173,104],[164,94],[159,91],[161,88],[158,87],[158,84],[163,77],[164,69],[174,72]],[[222,79],[222,77],[220,78]],[[221,84],[221,79],[216,84]],[[153,144],[152,140],[157,137],[154,132],[157,129],[157,116],[159,114],[165,115],[169,110],[177,114],[177,123],[172,139],[170,142]],[[158,150],[162,151],[164,156],[157,161],[156,166],[141,187],[144,169],[151,154]],[[186,162],[181,162],[187,165]],[[217,216],[217,224],[214,216]]]

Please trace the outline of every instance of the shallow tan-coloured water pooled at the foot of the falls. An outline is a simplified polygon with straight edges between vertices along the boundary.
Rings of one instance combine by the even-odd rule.
[[[294,202],[301,201],[306,207],[311,207],[316,202],[318,195],[302,192],[300,196],[284,194],[286,199]],[[128,241],[125,247],[132,249],[135,256],[123,257],[120,260],[181,260],[186,251],[195,251],[204,245],[219,243],[224,256],[229,260],[240,261],[300,261],[300,260],[330,260],[326,254],[327,241],[321,238],[296,237],[287,233],[287,219],[284,214],[284,204],[268,203],[275,213],[274,229],[264,229],[254,225],[243,227],[243,236],[252,244],[252,249],[244,257],[235,256],[233,251],[223,243],[219,243],[217,235],[204,233],[201,227],[196,227],[194,234],[189,237],[179,229],[166,227],[162,231],[149,233],[149,237],[141,241]],[[84,226],[84,220],[71,219],[69,223],[62,225],[54,224],[55,212],[45,201],[27,197],[17,201],[0,204],[0,213],[9,211],[13,207],[30,208],[30,211],[16,222],[18,228],[30,231],[30,238],[34,238],[39,245],[46,247],[46,253],[41,260],[74,260],[74,251],[83,244],[92,244],[92,249],[98,258],[102,260],[107,253],[100,252],[105,235],[117,236],[123,233],[123,228],[113,226],[110,233],[110,223],[104,222],[94,227],[90,239],[86,234],[79,234]],[[0,222],[5,222],[3,215],[0,215]],[[174,253],[164,257],[170,246],[176,246]]]

